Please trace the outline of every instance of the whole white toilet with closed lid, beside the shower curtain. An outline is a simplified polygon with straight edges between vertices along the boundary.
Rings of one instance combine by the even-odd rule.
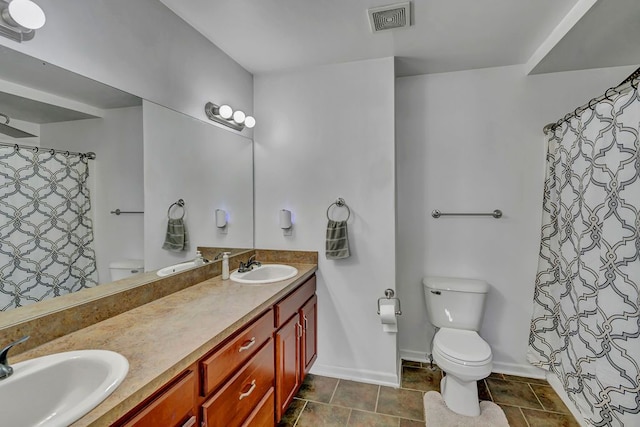
[[[489,285],[482,280],[425,277],[429,321],[439,328],[433,339],[434,362],[446,373],[440,382],[445,403],[458,414],[480,415],[476,382],[491,373],[491,347],[478,330]]]

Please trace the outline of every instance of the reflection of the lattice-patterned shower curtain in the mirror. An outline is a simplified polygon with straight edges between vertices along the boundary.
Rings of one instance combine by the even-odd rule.
[[[84,156],[0,147],[0,310],[97,285]]]

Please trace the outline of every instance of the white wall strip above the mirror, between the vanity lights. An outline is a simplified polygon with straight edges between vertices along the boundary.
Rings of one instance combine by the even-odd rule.
[[[157,0],[38,4],[35,38],[0,44],[203,120],[207,101],[253,111],[252,75]]]

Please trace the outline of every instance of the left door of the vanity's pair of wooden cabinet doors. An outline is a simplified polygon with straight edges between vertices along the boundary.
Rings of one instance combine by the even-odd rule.
[[[292,317],[276,332],[276,420],[293,400],[300,387],[300,338],[302,325],[299,316]]]

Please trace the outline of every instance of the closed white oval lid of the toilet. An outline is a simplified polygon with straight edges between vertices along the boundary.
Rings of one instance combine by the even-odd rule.
[[[475,331],[442,328],[433,344],[444,356],[465,362],[485,362],[491,358],[491,347]]]

